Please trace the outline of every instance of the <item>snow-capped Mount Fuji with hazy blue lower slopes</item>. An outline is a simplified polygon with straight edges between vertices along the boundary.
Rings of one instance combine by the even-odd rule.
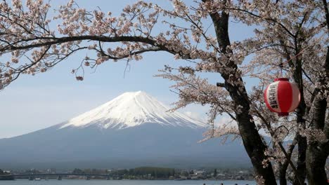
[[[207,124],[147,93],[124,93],[64,123],[0,139],[0,167],[250,167],[240,141],[198,143]]]

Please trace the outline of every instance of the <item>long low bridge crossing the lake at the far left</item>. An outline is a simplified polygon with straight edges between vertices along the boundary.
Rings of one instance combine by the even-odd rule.
[[[40,173],[40,174],[1,174],[0,180],[11,180],[11,179],[22,179],[27,178],[30,180],[42,178],[46,179],[49,177],[57,177],[58,180],[61,180],[62,177],[68,177],[68,176],[80,176],[80,177],[86,177],[86,180],[89,180],[90,177],[105,177],[105,179],[113,179],[113,178],[120,178],[120,176],[115,174],[86,174],[86,173]]]

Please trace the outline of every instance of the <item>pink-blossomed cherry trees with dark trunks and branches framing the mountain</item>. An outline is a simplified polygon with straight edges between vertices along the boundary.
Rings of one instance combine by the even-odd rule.
[[[329,154],[329,12],[325,0],[257,1],[200,0],[187,6],[172,0],[172,9],[138,1],[120,16],[80,8],[75,1],[60,6],[49,18],[50,4],[41,0],[0,3],[0,89],[21,74],[35,75],[79,53],[94,51],[72,70],[78,81],[84,70],[104,62],[142,60],[143,53],[162,51],[180,67],[165,66],[158,76],[175,82],[179,101],[209,104],[209,124],[227,115],[238,127],[220,125],[205,139],[240,137],[258,184],[326,184]],[[51,27],[51,22],[60,22]],[[233,20],[254,26],[254,35],[231,42]],[[159,30],[165,30],[159,32]],[[162,28],[162,29],[159,29]],[[251,56],[252,60],[245,57]],[[203,74],[218,74],[209,83]],[[301,102],[282,118],[266,109],[263,92],[273,78],[297,83]],[[245,77],[258,85],[246,90]],[[259,132],[266,132],[271,141]],[[287,142],[290,140],[291,142]]]

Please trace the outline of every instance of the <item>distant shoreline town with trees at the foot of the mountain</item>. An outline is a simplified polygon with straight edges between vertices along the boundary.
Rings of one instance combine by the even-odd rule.
[[[0,170],[0,180],[13,179],[141,179],[141,180],[253,180],[250,169],[174,169],[136,167],[133,169]]]

